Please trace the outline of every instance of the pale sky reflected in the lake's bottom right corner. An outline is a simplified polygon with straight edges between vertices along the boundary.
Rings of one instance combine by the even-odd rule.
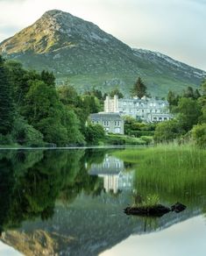
[[[100,256],[205,256],[205,217],[192,217],[167,229],[132,235]]]

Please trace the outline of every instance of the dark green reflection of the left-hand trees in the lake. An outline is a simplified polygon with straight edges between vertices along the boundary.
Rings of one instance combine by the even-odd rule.
[[[85,150],[13,151],[0,155],[0,231],[18,227],[26,219],[53,216],[55,200],[71,203],[83,190],[98,195],[102,183],[89,176]]]

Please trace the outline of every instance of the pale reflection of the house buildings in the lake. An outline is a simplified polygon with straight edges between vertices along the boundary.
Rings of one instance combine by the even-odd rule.
[[[106,192],[127,190],[132,188],[133,172],[126,172],[124,161],[114,156],[105,155],[101,164],[92,164],[89,174],[103,177],[103,188]]]

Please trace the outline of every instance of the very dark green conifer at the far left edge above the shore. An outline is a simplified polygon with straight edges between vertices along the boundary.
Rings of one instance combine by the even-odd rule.
[[[4,60],[0,56],[0,133],[11,132],[14,119],[14,104],[11,82],[8,70],[4,67]]]

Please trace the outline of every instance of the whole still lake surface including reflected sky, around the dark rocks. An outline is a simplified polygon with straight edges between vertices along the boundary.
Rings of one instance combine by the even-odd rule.
[[[191,169],[180,166],[181,174],[155,174],[160,162],[153,158],[156,169],[150,170],[141,150],[132,149],[135,160],[123,157],[131,152],[124,148],[2,151],[0,255],[206,255],[201,155],[200,168],[194,160]],[[167,206],[179,201],[187,210],[126,216],[137,191],[158,195]]]

